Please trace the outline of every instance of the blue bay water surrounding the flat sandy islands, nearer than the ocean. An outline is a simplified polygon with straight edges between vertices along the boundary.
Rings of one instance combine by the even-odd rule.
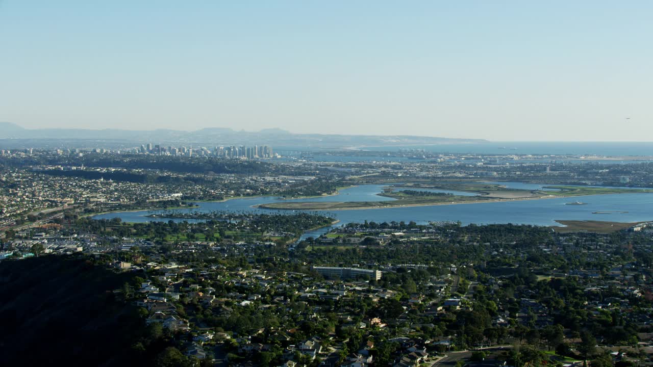
[[[503,184],[514,185],[515,183],[503,182]],[[374,198],[384,200],[376,194],[381,192],[385,185],[360,185],[340,191],[340,195],[323,197],[321,201],[360,201],[362,198]],[[515,187],[517,188],[517,187]],[[349,193],[350,195],[347,195]],[[327,200],[330,199],[330,200]],[[390,199],[390,198],[385,198]],[[251,199],[232,199],[223,202],[199,202],[199,208],[181,209],[177,212],[259,212],[259,213],[281,213],[291,214],[291,210],[268,210],[253,208],[252,206],[269,202],[276,202],[279,198],[257,197]],[[315,201],[316,199],[296,199],[293,201]],[[586,205],[565,205],[567,202],[582,200]],[[340,220],[339,225],[347,223],[361,223],[362,221],[415,221],[417,223],[428,223],[429,221],[461,221],[463,225],[470,223],[513,223],[530,225],[558,225],[555,220],[599,220],[635,222],[653,220],[653,193],[625,193],[611,195],[588,195],[584,197],[560,198],[560,199],[539,199],[539,200],[512,200],[503,202],[483,202],[476,204],[453,204],[434,206],[411,206],[398,208],[379,208],[365,210],[334,210],[322,212],[333,215]],[[627,212],[592,214],[592,212]],[[163,210],[148,212],[123,212],[95,215],[94,219],[111,219],[119,217],[127,222],[152,221],[145,215],[152,213],[163,213]],[[161,221],[162,219],[158,219]],[[168,219],[163,219],[167,221]],[[172,219],[183,221],[183,219]],[[201,220],[186,219],[189,222]],[[319,236],[330,228],[319,229],[307,232],[302,236]]]

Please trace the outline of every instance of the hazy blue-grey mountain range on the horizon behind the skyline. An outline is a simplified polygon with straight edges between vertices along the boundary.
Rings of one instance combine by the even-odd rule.
[[[121,129],[24,129],[14,123],[0,122],[0,138],[52,140],[122,140],[134,144],[196,144],[200,146],[270,144],[278,147],[335,149],[357,146],[409,146],[428,144],[464,144],[484,142],[481,139],[454,139],[409,135],[337,135],[293,134],[282,129],[234,131],[210,127],[197,131],[180,130],[121,130]],[[1,145],[1,144],[0,144]]]

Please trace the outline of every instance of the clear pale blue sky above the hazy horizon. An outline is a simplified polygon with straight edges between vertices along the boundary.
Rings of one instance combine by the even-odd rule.
[[[653,1],[0,0],[0,121],[653,140]]]

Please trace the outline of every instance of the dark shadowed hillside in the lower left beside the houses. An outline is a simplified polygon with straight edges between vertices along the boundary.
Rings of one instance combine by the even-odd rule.
[[[78,257],[3,261],[0,365],[147,365],[131,348],[144,322],[113,292],[133,277]]]

